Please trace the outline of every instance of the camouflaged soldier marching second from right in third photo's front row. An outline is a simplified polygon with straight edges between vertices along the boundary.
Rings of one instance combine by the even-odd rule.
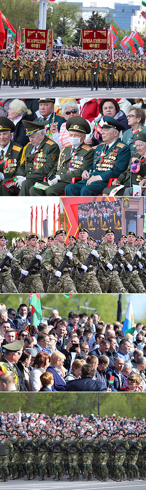
[[[98,281],[101,286],[102,293],[108,293],[109,288],[111,289],[112,293],[127,293],[119,278],[117,264],[112,266],[110,263],[118,250],[118,247],[113,244],[114,231],[106,230],[105,235],[107,242],[102,243],[98,248],[99,261],[103,267],[107,266],[110,269],[110,272],[108,277],[105,277],[103,269],[100,268],[99,270]],[[119,249],[119,257],[122,255],[121,252]],[[119,260],[121,261],[121,258],[119,258]]]

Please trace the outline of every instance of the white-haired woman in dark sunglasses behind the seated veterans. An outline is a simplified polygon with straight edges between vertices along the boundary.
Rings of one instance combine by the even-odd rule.
[[[73,100],[68,100],[67,102],[65,102],[63,104],[61,113],[62,113],[62,116],[64,116],[64,118],[66,119],[66,121],[68,121],[68,119],[72,118],[73,116],[79,116],[78,104],[76,104],[76,102],[74,102]],[[92,123],[90,123],[90,121],[88,121],[88,123],[90,124],[91,131],[92,131],[93,125],[92,125]],[[50,125],[50,130],[52,131],[53,139],[54,139],[55,143],[57,143],[57,145],[59,146],[60,150],[63,147],[70,147],[71,146],[70,141],[69,141],[69,131],[66,129],[66,123],[61,124],[61,128],[60,128],[59,133],[58,133],[57,126],[55,125],[55,123],[52,123]],[[87,135],[87,137],[89,137],[89,136],[90,136],[90,134]],[[86,143],[86,140],[85,140],[85,143]]]

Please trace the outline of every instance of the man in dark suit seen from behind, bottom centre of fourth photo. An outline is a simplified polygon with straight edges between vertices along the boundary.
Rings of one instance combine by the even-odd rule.
[[[95,369],[93,366],[82,366],[81,378],[67,381],[66,392],[106,392],[104,383],[98,382],[93,378]]]

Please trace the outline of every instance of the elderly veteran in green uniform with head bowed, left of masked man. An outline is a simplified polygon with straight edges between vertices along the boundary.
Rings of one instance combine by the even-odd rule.
[[[52,171],[59,157],[59,147],[46,136],[45,122],[23,120],[23,124],[30,143],[23,149],[13,192],[18,194],[19,191],[19,196],[28,196],[30,187],[36,182],[42,182],[48,172]],[[7,195],[7,191],[1,187],[1,196]]]

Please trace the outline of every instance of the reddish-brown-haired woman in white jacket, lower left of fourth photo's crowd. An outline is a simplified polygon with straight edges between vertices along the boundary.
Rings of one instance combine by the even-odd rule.
[[[42,387],[40,376],[42,372],[45,372],[50,364],[50,355],[46,354],[46,352],[38,352],[35,360],[32,364],[32,371],[29,376],[29,386],[30,392],[39,392]]]

